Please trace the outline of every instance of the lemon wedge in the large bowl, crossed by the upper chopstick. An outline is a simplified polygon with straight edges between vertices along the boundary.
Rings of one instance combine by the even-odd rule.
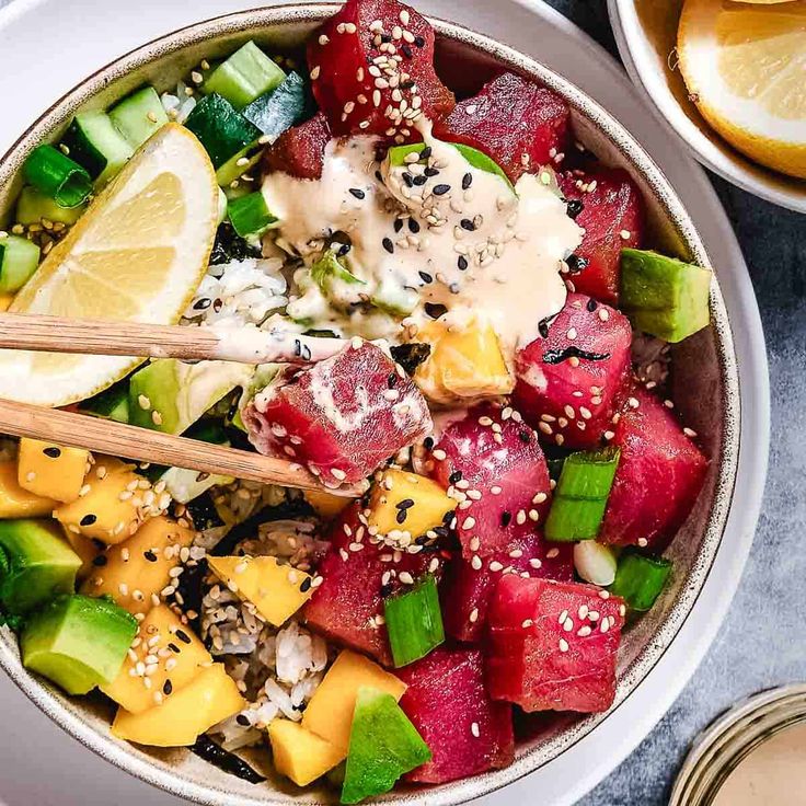
[[[168,124],[50,251],[10,310],[173,324],[207,269],[217,216],[207,153],[191,131]],[[141,361],[0,350],[0,398],[67,405]]]

